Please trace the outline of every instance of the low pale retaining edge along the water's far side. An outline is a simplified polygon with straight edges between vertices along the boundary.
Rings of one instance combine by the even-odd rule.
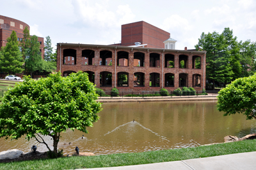
[[[182,97],[100,97],[98,102],[166,102],[166,101],[198,101],[218,100],[217,95],[211,96],[182,96]]]

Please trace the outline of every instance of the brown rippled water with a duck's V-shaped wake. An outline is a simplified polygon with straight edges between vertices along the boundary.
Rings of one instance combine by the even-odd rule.
[[[64,154],[74,153],[76,146],[96,155],[186,148],[222,143],[226,135],[243,137],[256,132],[256,121],[246,120],[242,114],[223,116],[215,101],[104,103],[102,107],[100,120],[88,128],[85,139],[81,139],[83,132],[78,130],[61,134],[58,147]],[[44,139],[52,146],[50,137]],[[38,151],[47,151],[35,139],[2,138],[0,144],[0,151],[27,152],[33,144]]]

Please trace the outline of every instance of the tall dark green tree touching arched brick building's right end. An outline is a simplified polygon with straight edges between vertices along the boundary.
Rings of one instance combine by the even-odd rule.
[[[206,78],[214,82],[230,82],[233,79],[234,72],[230,65],[230,52],[228,51],[227,40],[223,34],[202,33],[198,39],[196,49],[206,50]]]

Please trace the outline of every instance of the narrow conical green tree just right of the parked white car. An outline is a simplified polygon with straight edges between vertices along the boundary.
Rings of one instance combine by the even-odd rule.
[[[29,41],[29,47],[26,49],[26,72],[29,72],[31,77],[32,73],[37,70],[42,70],[43,59],[40,52],[40,43],[38,37],[33,35]]]

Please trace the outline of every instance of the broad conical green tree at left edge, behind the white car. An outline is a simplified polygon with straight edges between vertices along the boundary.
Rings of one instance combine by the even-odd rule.
[[[24,61],[19,49],[19,42],[15,31],[12,31],[10,37],[7,38],[5,47],[1,48],[0,53],[0,66],[3,72],[9,74],[21,73]]]

